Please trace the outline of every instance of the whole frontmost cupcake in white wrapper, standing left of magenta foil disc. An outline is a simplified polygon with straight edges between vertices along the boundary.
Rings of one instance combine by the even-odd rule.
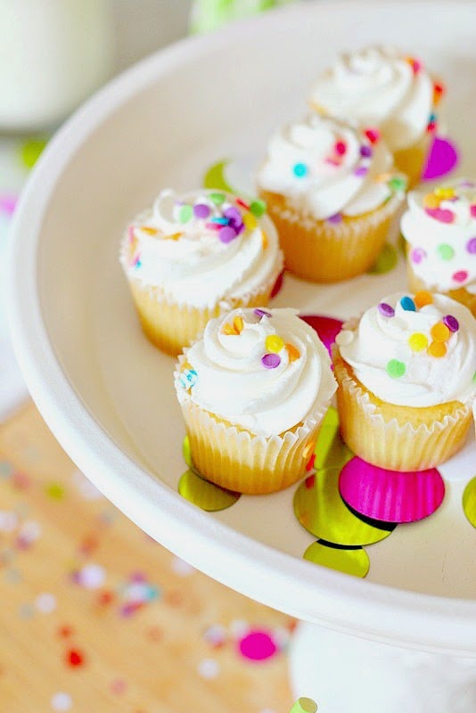
[[[306,475],[336,389],[327,350],[295,310],[243,307],[207,324],[175,384],[194,467],[250,494]]]

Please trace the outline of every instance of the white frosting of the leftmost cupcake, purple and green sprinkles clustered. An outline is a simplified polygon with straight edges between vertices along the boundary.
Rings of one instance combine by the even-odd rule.
[[[205,308],[244,299],[283,267],[263,201],[221,191],[163,191],[122,242],[127,276],[158,286],[179,305]]]

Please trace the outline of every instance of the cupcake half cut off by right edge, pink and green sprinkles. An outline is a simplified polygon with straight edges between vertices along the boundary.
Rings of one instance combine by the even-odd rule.
[[[446,294],[476,316],[476,182],[410,193],[401,231],[410,290]]]

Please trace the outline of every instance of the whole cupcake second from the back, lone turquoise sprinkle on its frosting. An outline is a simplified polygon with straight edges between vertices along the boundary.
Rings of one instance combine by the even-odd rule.
[[[318,283],[373,265],[406,188],[382,141],[318,114],[273,136],[257,182],[286,267]]]

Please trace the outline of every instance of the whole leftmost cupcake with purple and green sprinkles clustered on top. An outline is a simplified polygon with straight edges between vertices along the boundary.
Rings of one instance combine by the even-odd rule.
[[[176,355],[212,317],[266,305],[283,270],[262,201],[163,191],[121,243],[120,262],[149,340]]]

